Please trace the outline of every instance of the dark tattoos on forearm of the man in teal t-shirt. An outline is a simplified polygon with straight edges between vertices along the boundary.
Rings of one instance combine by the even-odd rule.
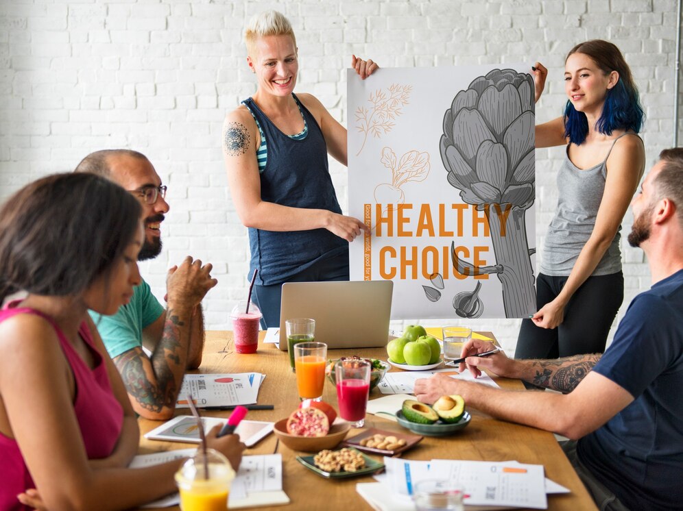
[[[166,318],[164,332],[155,350],[155,353],[161,350],[163,356],[153,357],[150,361],[153,375],[145,371],[143,357],[146,355],[141,348],[126,351],[114,359],[128,394],[141,408],[151,412],[160,412],[164,407],[173,408],[178,398],[180,383],[176,384],[171,367],[177,368],[183,360],[180,356],[178,327],[184,323],[171,310]],[[181,371],[184,372],[184,368]]]

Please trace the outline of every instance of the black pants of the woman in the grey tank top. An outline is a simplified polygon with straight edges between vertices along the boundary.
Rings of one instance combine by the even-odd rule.
[[[560,294],[568,277],[536,279],[536,306],[542,308]],[[624,299],[624,276],[588,277],[564,308],[564,321],[553,329],[540,328],[530,319],[522,321],[515,358],[558,358],[584,353],[603,353],[612,321]]]

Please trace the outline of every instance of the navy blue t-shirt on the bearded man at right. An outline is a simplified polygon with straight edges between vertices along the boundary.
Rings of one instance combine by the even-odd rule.
[[[593,371],[635,400],[579,440],[579,459],[630,509],[681,509],[683,270],[631,302]]]

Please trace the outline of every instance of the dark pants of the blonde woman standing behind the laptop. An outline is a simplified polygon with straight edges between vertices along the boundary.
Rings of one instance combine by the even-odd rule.
[[[329,282],[333,280],[348,280],[348,253],[335,255],[333,258],[318,261],[304,271],[287,279],[287,282]],[[254,285],[252,300],[259,306],[263,318],[261,327],[280,326],[280,304],[282,303],[283,284],[271,286]]]

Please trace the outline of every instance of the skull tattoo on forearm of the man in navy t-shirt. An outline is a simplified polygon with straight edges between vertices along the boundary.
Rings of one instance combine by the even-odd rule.
[[[600,360],[600,355],[575,355],[556,360],[535,360],[531,362],[535,372],[531,383],[567,394],[581,383],[598,360]]]

